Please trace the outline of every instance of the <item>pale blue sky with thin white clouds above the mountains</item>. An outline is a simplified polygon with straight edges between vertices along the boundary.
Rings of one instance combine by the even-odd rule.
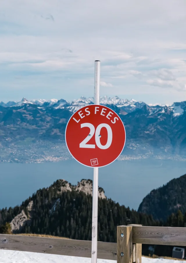
[[[2,0],[0,101],[186,101],[185,0]]]

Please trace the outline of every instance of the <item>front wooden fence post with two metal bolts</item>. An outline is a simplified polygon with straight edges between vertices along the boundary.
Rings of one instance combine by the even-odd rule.
[[[117,263],[133,263],[132,226],[117,226]]]

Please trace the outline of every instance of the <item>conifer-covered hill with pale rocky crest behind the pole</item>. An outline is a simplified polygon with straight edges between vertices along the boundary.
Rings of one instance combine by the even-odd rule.
[[[92,181],[84,180],[92,185]],[[77,190],[63,180],[56,181],[49,188],[38,190],[19,207],[2,209],[0,225],[11,222],[13,232],[40,233],[91,240],[92,235],[92,195]],[[79,187],[79,189],[81,189]],[[104,198],[99,188],[98,240],[116,242],[116,226],[131,223],[148,226],[158,225],[151,215],[138,213]],[[32,203],[30,208],[29,204]],[[24,210],[24,211],[22,211]],[[17,223],[19,221],[19,224]],[[22,226],[20,222],[22,221]],[[15,227],[18,225],[19,227]]]

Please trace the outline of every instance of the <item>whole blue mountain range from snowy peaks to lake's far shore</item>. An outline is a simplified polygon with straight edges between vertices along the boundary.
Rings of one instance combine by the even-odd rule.
[[[66,124],[73,112],[93,104],[93,101],[93,98],[81,97],[71,103],[64,99],[28,101],[25,98],[18,102],[1,102],[0,162],[69,158],[66,148],[58,149],[65,141]],[[119,114],[125,125],[126,146],[120,160],[129,156],[185,160],[186,101],[172,105],[147,105],[133,99],[105,96],[100,103]],[[51,149],[56,149],[55,156],[60,155],[59,158],[51,153]]]

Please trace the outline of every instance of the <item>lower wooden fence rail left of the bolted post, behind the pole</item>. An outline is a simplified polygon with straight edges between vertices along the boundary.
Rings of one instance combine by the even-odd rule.
[[[91,243],[72,239],[0,235],[0,249],[76,257],[91,257]],[[98,258],[117,260],[116,253],[116,243],[98,242]]]

